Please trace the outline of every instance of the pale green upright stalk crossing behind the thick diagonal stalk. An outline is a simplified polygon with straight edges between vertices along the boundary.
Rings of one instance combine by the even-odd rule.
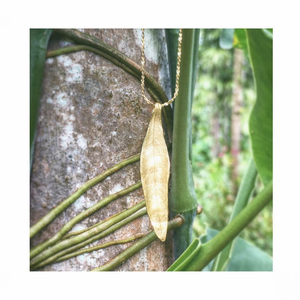
[[[253,191],[255,179],[257,177],[257,169],[253,158],[248,165],[247,171],[243,176],[242,182],[238,189],[238,194],[235,199],[235,203],[232,209],[231,216],[228,223],[230,223],[239,212],[247,205],[250,195]],[[225,271],[234,248],[234,241],[230,242],[221,253],[214,259],[214,264],[211,271]]]

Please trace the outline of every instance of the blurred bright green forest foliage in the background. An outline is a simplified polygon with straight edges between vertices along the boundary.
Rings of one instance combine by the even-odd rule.
[[[231,180],[230,153],[233,49],[219,46],[220,29],[203,29],[199,40],[199,70],[192,107],[193,178],[203,212],[194,224],[194,237],[206,227],[226,226],[235,200]],[[253,74],[248,58],[243,61],[243,101],[240,110],[241,142],[239,184],[251,158],[248,122],[255,102]],[[258,178],[253,191],[262,190]],[[272,255],[272,204],[268,205],[241,233],[241,237]]]

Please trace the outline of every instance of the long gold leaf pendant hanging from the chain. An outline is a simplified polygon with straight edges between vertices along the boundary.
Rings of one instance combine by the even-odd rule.
[[[151,224],[158,238],[165,241],[168,227],[170,160],[161,124],[160,103],[155,103],[142,146],[140,172]]]

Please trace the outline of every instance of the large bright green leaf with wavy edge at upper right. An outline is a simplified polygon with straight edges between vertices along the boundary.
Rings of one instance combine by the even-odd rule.
[[[273,40],[271,32],[263,29],[246,29],[246,34],[256,85],[250,139],[258,173],[267,184],[273,177]]]

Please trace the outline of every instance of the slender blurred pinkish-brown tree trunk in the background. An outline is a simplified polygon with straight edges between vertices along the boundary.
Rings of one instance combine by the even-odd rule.
[[[240,110],[243,99],[241,73],[243,63],[243,51],[234,49],[233,56],[233,91],[232,91],[232,113],[231,113],[231,155],[233,157],[231,180],[233,184],[233,193],[237,192],[238,179],[238,154],[240,151],[241,140],[241,121]]]

